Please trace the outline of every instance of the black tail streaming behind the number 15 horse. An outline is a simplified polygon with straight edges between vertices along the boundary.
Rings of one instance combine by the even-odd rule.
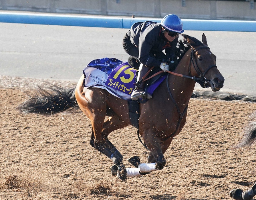
[[[68,110],[75,112],[79,108],[75,88],[63,89],[58,86],[44,88],[37,86],[37,89],[25,92],[29,99],[20,104],[17,109],[23,113],[53,115]]]

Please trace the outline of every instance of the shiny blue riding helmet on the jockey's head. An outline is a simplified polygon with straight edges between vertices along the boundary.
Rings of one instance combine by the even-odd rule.
[[[184,30],[182,29],[183,23],[181,19],[174,14],[166,15],[162,21],[161,25],[169,31],[183,33]]]

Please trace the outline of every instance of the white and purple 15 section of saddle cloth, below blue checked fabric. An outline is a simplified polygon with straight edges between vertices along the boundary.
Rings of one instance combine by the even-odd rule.
[[[124,62],[114,68],[110,75],[90,66],[84,68],[84,87],[106,89],[112,95],[121,99],[130,99],[135,87],[135,70]]]

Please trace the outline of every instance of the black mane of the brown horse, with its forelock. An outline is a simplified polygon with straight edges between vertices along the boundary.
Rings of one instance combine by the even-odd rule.
[[[179,64],[181,58],[185,55],[185,53],[190,49],[191,46],[196,47],[196,46],[203,45],[203,43],[199,41],[197,38],[194,38],[185,34],[181,34],[181,36],[183,38],[178,41],[178,44],[175,50],[175,55],[177,56],[177,60],[174,59],[174,62],[176,66]],[[194,43],[189,44],[187,38],[189,38],[189,40],[192,40]]]

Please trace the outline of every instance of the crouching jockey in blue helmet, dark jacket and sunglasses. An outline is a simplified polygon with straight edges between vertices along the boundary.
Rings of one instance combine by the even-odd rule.
[[[181,19],[174,14],[166,15],[161,23],[152,21],[138,22],[125,34],[123,48],[140,67],[136,87],[131,99],[137,100],[144,95],[145,82],[142,77],[152,66],[159,66],[164,72],[169,70],[169,63],[174,58],[178,35],[184,30]],[[165,50],[164,52],[162,52]],[[147,98],[152,98],[147,95]]]

